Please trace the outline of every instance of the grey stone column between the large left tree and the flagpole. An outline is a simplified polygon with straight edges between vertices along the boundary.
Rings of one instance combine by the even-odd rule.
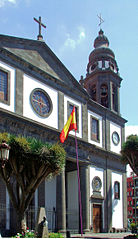
[[[65,171],[57,176],[56,183],[56,227],[57,231],[66,232]]]

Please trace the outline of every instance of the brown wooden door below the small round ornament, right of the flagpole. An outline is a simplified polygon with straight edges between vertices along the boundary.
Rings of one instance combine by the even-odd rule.
[[[93,232],[101,232],[101,205],[93,204]]]

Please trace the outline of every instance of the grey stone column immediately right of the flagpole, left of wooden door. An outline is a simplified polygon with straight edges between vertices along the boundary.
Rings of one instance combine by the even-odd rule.
[[[89,166],[80,167],[80,190],[83,232],[90,231],[90,177]]]

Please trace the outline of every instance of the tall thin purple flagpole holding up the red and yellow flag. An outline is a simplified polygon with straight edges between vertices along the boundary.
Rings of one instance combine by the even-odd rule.
[[[80,209],[80,226],[81,226],[81,236],[82,236],[82,235],[83,235],[83,229],[82,229],[82,205],[81,205],[80,175],[79,175],[78,145],[77,145],[76,130],[75,130],[75,145],[76,145],[76,161],[77,161],[77,176],[78,176],[78,194],[79,194],[79,209]]]

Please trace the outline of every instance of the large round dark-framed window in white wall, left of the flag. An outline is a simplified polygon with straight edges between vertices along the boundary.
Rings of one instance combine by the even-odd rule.
[[[47,117],[52,111],[52,101],[49,95],[42,89],[34,89],[30,96],[31,104],[35,112],[42,116]]]

